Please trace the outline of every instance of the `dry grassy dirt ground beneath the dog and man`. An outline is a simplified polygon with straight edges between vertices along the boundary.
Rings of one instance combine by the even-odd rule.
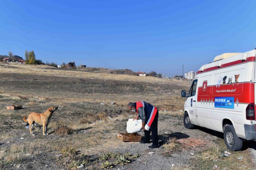
[[[255,169],[255,142],[223,156],[222,133],[184,128],[180,93],[189,87],[179,80],[0,62],[0,169]],[[137,100],[159,108],[159,148],[117,138],[134,117],[128,102]],[[23,108],[6,110],[14,104]],[[49,135],[36,125],[32,136],[22,117],[50,106],[58,110]],[[118,155],[127,158],[124,165]]]

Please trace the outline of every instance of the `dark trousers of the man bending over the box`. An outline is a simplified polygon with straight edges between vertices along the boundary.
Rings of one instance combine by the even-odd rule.
[[[151,124],[150,130],[144,130],[144,134],[145,134],[145,139],[144,141],[149,141],[150,138],[150,133],[152,132],[152,145],[158,145],[158,136],[157,136],[157,122],[158,122],[158,111],[155,114],[155,118],[154,121]]]

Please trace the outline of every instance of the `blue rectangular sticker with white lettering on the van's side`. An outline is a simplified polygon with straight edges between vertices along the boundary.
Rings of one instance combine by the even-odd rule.
[[[215,97],[214,107],[234,108],[234,97]]]

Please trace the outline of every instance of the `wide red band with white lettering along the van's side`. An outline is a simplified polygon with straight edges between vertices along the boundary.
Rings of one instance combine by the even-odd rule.
[[[234,86],[233,86],[234,85]],[[203,91],[203,87],[198,87],[197,101],[213,100],[214,97],[234,97],[234,102],[254,103],[254,83],[237,83],[220,85],[220,87],[207,86]]]

